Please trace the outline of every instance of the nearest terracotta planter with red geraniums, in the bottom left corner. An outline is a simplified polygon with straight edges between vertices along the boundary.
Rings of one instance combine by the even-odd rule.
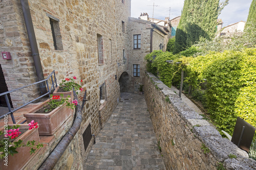
[[[24,168],[41,147],[43,145],[39,143],[38,125],[34,120],[29,124],[2,128],[0,131],[1,169]]]

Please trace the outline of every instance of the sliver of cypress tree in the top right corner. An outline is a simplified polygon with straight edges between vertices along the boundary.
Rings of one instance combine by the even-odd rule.
[[[252,0],[248,18],[245,25],[245,30],[256,31],[256,0]]]

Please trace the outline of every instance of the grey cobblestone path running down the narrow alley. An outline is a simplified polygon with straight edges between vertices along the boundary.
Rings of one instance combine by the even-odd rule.
[[[121,93],[84,169],[165,169],[143,95]]]

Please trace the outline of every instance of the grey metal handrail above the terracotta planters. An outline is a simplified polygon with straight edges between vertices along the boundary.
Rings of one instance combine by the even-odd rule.
[[[53,74],[54,74],[54,81],[53,81],[53,77],[52,77]],[[51,78],[51,80],[52,80],[52,85],[51,85],[51,88],[49,89],[49,81],[48,81],[48,80],[49,80],[50,78]],[[35,84],[42,83],[42,82],[46,82],[46,84],[47,84],[47,90],[48,90],[47,93],[45,93],[45,94],[39,96],[38,98],[36,98],[36,99],[34,99],[34,100],[32,100],[32,101],[30,101],[30,102],[28,102],[28,103],[25,103],[24,105],[22,105],[22,106],[20,106],[20,107],[18,107],[18,108],[16,108],[16,109],[11,110],[11,105],[10,105],[10,101],[9,101],[9,99],[8,99],[8,95],[7,95],[7,94],[9,94],[9,93],[11,93],[11,92],[14,92],[14,91],[17,91],[17,90],[20,90],[20,89],[23,89],[23,88],[26,88],[26,87],[28,87],[28,86],[32,86],[32,85],[35,85]],[[32,102],[34,102],[34,101],[36,101],[36,100],[38,100],[38,99],[40,99],[40,98],[46,96],[47,94],[49,95],[49,98],[50,98],[50,93],[51,93],[52,88],[53,88],[53,90],[55,90],[55,88],[54,88],[54,83],[56,84],[56,87],[57,87],[57,79],[56,79],[56,76],[55,76],[55,70],[53,70],[53,71],[51,72],[51,74],[47,77],[47,79],[45,79],[45,80],[41,80],[41,81],[35,82],[35,83],[33,83],[33,84],[29,84],[29,85],[26,85],[26,86],[23,86],[23,87],[20,87],[20,88],[11,90],[11,91],[7,91],[7,92],[1,93],[0,96],[5,95],[5,101],[6,101],[6,103],[7,103],[9,112],[6,113],[6,114],[4,114],[4,115],[2,115],[2,116],[0,116],[0,119],[3,118],[3,117],[5,117],[5,115],[11,114],[12,122],[13,122],[13,124],[16,124],[15,118],[14,118],[14,116],[13,116],[13,112],[15,112],[16,110],[18,110],[18,109],[20,109],[20,108],[23,108],[24,106],[27,106],[28,104],[30,104],[30,103],[32,103]],[[27,122],[27,120],[24,120],[21,124],[24,124],[25,122]]]

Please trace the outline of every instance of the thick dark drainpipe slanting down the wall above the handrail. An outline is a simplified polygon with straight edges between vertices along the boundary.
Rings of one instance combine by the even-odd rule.
[[[22,11],[23,11],[24,21],[25,21],[25,25],[28,33],[31,52],[34,60],[37,81],[45,80],[44,72],[42,72],[42,65],[41,65],[38,47],[36,43],[35,31],[34,31],[33,22],[30,14],[28,0],[20,0],[20,4],[22,5]],[[41,94],[47,93],[45,82],[40,83],[39,88],[40,88]]]

